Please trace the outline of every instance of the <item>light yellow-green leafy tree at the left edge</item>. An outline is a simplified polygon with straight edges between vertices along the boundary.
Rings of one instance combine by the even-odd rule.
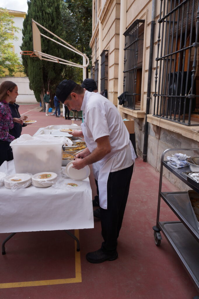
[[[19,28],[13,26],[12,17],[6,9],[0,7],[0,77],[7,71],[12,76],[17,71],[17,65],[20,65],[19,57],[11,51],[12,40],[17,39],[12,33],[19,31]]]

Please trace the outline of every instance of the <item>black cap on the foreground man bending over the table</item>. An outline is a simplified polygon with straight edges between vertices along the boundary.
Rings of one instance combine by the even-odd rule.
[[[59,85],[57,86],[56,89],[56,97],[64,103],[71,91],[75,88],[77,83],[75,83],[72,80],[63,80]]]

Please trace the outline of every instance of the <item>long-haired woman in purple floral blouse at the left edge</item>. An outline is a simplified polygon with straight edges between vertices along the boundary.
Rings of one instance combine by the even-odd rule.
[[[0,165],[4,161],[13,159],[10,142],[15,139],[11,134],[14,122],[23,124],[21,118],[13,118],[8,105],[10,101],[15,101],[18,96],[18,87],[12,81],[4,81],[0,85]]]

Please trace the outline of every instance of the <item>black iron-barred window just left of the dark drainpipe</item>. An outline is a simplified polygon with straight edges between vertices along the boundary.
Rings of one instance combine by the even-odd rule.
[[[143,61],[144,20],[137,19],[124,33],[124,80],[123,89],[126,92],[124,107],[136,110],[136,103],[141,98],[141,81]],[[140,71],[141,70],[141,71]],[[137,81],[139,75],[139,82]],[[137,107],[137,110],[140,106]]]

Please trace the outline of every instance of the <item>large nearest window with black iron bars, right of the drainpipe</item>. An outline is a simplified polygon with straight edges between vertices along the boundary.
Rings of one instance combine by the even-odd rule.
[[[198,0],[160,0],[153,115],[191,123],[199,102],[198,78]],[[199,111],[199,110],[198,110]]]

